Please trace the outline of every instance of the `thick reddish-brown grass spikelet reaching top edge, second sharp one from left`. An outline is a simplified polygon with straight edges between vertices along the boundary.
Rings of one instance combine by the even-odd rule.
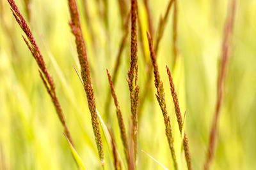
[[[104,166],[104,152],[103,152],[103,146],[102,146],[102,139],[100,136],[96,104],[95,104],[95,99],[94,99],[94,94],[92,89],[92,81],[90,77],[90,69],[88,66],[86,48],[84,44],[83,32],[81,29],[79,12],[77,10],[76,1],[68,0],[68,7],[70,11],[70,16],[71,16],[70,27],[72,29],[72,33],[76,38],[77,54],[78,54],[79,63],[81,66],[81,75],[82,75],[84,90],[86,92],[86,97],[88,101],[88,107],[92,117],[92,127],[93,127],[94,136],[95,136],[95,141],[97,144],[100,161],[102,163],[102,166]]]

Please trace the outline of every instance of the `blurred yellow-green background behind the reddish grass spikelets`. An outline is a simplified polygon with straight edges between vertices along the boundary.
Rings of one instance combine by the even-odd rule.
[[[72,66],[79,69],[76,44],[68,25],[70,15],[67,1],[31,0],[30,17],[26,14],[24,2],[16,0],[54,78],[57,96],[77,153],[87,169],[101,169],[83,85]],[[97,110],[104,121],[111,125],[118,151],[125,160],[112,99],[110,117],[104,114],[109,92],[106,69],[113,73],[124,34],[118,1],[108,0],[107,24],[100,15],[102,1],[87,1],[91,25],[86,22],[84,1],[78,0],[77,3],[92,72]],[[184,153],[181,152],[180,134],[165,66],[168,65],[173,73],[182,114],[186,111],[185,129],[193,167],[202,169],[216,106],[221,42],[228,3],[227,0],[178,1],[180,55],[175,67],[172,64],[173,8],[159,45],[157,62],[164,82],[166,105],[171,118],[180,169],[187,167]],[[40,80],[38,66],[22,39],[23,32],[15,22],[8,2],[1,0],[0,4],[0,169],[77,169],[51,98]],[[149,4],[156,31],[168,1],[150,0]],[[147,52],[146,60],[149,61],[147,13],[141,0],[138,0],[138,9],[144,48]],[[225,94],[212,169],[256,169],[255,9],[254,0],[237,1],[232,52],[225,79]],[[130,39],[129,34],[115,85],[127,129],[131,124],[126,81],[130,61]],[[139,45],[140,94],[143,93],[148,76],[141,51]],[[152,88],[148,91],[139,127],[138,169],[163,169],[141,150],[168,169],[173,169],[164,134],[163,115],[154,96],[154,82],[150,83]],[[106,169],[113,169],[111,150],[108,149],[106,140],[103,141]]]

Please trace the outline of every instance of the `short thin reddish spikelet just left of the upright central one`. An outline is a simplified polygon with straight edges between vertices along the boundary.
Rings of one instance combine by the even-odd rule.
[[[117,100],[117,97],[116,97],[114,85],[111,81],[111,76],[109,74],[108,69],[107,69],[107,74],[108,74],[109,85],[110,85],[110,88],[111,88],[111,94],[113,96],[115,106],[116,106],[116,117],[118,118],[118,125],[119,125],[119,128],[120,128],[122,143],[124,145],[124,153],[125,153],[125,157],[126,157],[126,160],[127,160],[127,164],[129,164],[129,146],[128,146],[128,141],[127,141],[127,136],[126,136],[126,131],[125,131],[124,120],[123,120],[122,112],[121,112],[120,106],[118,104],[118,100]]]

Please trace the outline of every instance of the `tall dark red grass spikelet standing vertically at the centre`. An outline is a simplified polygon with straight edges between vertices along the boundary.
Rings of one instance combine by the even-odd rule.
[[[137,41],[137,1],[131,1],[131,62],[130,70],[128,72],[128,85],[131,96],[131,113],[132,113],[132,138],[134,143],[134,159],[137,162],[138,150],[138,41]]]

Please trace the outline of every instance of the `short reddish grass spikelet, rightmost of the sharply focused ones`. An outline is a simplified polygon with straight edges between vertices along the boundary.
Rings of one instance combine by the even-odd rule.
[[[179,100],[178,100],[177,93],[175,91],[175,85],[173,83],[172,74],[170,72],[170,69],[168,68],[168,66],[166,66],[166,69],[167,69],[167,74],[168,74],[168,78],[170,81],[170,89],[172,92],[172,99],[173,99],[173,104],[174,104],[174,108],[175,108],[175,114],[177,117],[177,122],[179,124],[180,135],[182,135],[182,127],[183,127],[184,122],[182,121],[182,115],[180,113]],[[185,131],[184,131],[184,138],[183,138],[183,147],[184,147],[185,158],[186,158],[188,169],[192,170],[191,157],[190,157],[189,145],[188,145],[188,137],[187,137],[187,134]]]

